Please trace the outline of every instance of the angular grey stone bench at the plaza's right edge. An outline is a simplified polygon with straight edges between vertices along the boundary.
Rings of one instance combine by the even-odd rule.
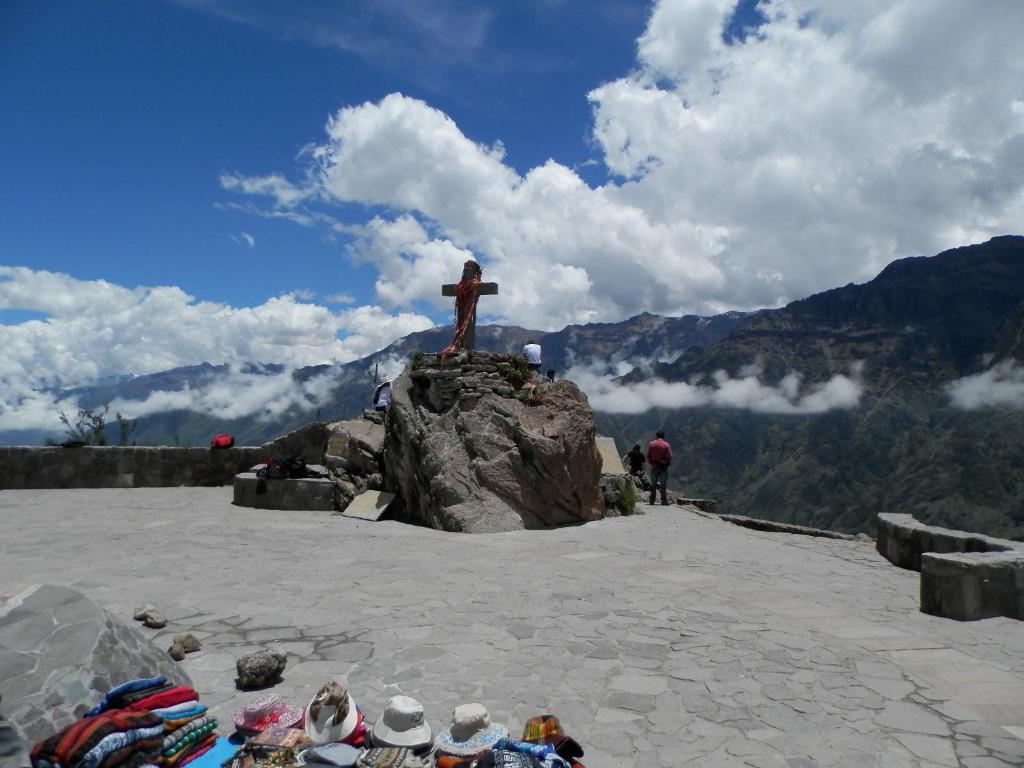
[[[1024,544],[880,514],[879,553],[921,571],[921,610],[972,622],[1024,618]]]

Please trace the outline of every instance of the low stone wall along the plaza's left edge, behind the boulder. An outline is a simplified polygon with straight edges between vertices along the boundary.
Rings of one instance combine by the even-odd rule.
[[[229,485],[267,456],[298,454],[319,464],[327,425],[315,422],[263,445],[201,447],[0,446],[0,489]]]

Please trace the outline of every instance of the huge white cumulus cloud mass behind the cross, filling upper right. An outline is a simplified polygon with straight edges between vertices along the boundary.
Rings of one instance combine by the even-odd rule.
[[[777,305],[1019,228],[1024,4],[765,0],[727,44],[735,5],[656,2],[635,69],[587,94],[602,185],[400,94],[332,116],[301,183],[226,185],[393,212],[351,251],[385,306],[437,301],[473,252],[501,284],[481,311],[545,329]]]

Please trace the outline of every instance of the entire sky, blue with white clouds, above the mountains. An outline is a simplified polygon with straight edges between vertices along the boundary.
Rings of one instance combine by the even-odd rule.
[[[469,256],[484,315],[551,330],[1019,232],[1022,33],[1019,0],[7,0],[0,426],[353,359],[445,322]]]

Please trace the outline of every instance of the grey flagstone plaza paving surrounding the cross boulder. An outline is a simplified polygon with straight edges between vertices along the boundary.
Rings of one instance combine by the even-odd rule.
[[[0,492],[0,593],[76,587],[161,647],[229,722],[234,660],[274,690],[347,681],[373,720],[435,728],[481,701],[515,735],[553,712],[588,768],[1024,765],[1024,623],[918,610],[868,542],[766,534],[680,507],[553,531],[458,535],[233,507],[231,489]],[[2,690],[2,681],[0,681]]]

